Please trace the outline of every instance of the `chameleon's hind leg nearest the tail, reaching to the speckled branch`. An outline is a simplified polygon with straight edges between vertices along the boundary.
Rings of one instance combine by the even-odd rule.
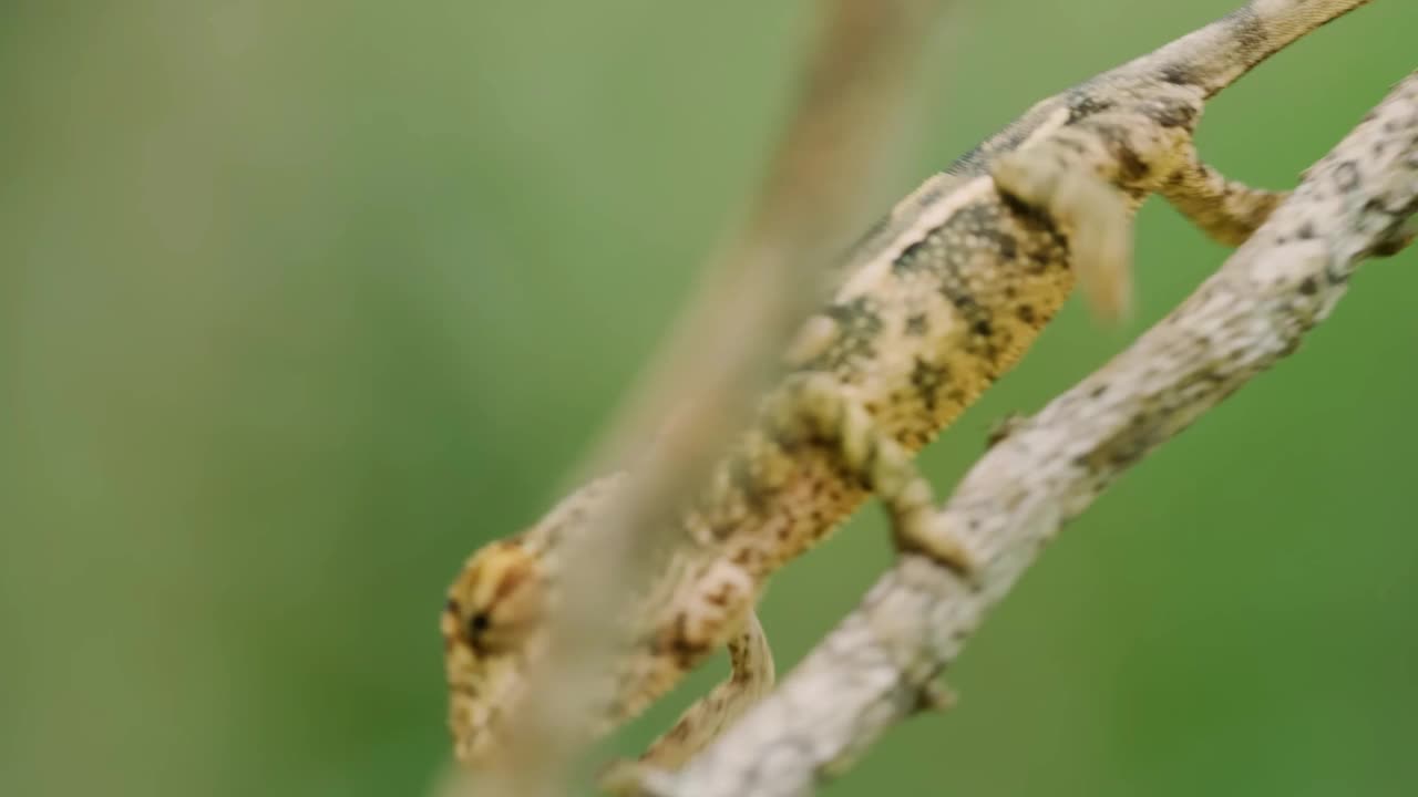
[[[1286,191],[1252,189],[1228,180],[1197,157],[1188,147],[1190,160],[1163,183],[1159,191],[1193,224],[1221,244],[1238,247],[1271,217]]]

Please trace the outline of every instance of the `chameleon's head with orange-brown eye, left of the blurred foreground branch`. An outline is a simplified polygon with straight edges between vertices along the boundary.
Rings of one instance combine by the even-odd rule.
[[[562,543],[588,525],[618,481],[594,481],[523,533],[478,549],[448,587],[440,630],[459,762],[489,764],[505,746],[526,672],[547,647]]]

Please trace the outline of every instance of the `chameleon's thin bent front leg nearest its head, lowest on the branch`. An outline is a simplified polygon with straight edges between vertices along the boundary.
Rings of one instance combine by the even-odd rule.
[[[601,788],[613,794],[634,794],[647,767],[679,769],[773,689],[773,651],[757,614],[749,613],[727,648],[729,678],[685,709],[674,728],[655,739],[640,760],[613,763],[600,779]]]

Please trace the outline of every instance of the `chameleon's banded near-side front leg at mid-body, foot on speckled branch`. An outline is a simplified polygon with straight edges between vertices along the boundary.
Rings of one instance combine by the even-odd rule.
[[[811,373],[790,377],[770,406],[780,444],[825,444],[838,467],[872,491],[892,519],[896,546],[930,556],[970,577],[974,556],[939,523],[934,491],[910,451],[885,434],[866,408],[837,380]]]

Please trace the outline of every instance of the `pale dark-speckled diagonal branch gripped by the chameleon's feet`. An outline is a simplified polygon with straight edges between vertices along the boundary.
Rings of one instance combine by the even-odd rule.
[[[1418,72],[1171,315],[1022,424],[942,509],[981,569],[966,581],[905,556],[791,676],[659,797],[800,796],[891,725],[939,705],[933,679],[1039,547],[1127,468],[1290,355],[1358,262],[1411,240]]]

